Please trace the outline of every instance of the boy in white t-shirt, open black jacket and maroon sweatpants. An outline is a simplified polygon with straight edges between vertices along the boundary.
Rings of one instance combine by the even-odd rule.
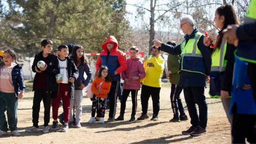
[[[68,132],[68,121],[69,121],[69,111],[70,111],[70,99],[74,99],[74,82],[76,81],[79,72],[76,68],[73,59],[68,57],[68,46],[59,45],[58,51],[60,56],[59,68],[62,79],[59,81],[56,80],[58,84],[58,95],[57,98],[52,99],[52,130],[56,130],[58,126],[58,110],[60,107],[60,98],[62,98],[62,107],[64,111],[64,126],[62,132]]]

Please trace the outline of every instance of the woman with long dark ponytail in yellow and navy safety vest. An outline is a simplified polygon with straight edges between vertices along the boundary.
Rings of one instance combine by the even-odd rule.
[[[231,88],[233,79],[233,69],[235,63],[234,51],[236,47],[233,44],[227,44],[223,41],[222,30],[230,24],[240,24],[236,17],[236,12],[232,4],[222,5],[215,12],[214,22],[216,28],[220,29],[216,43],[213,45],[208,37],[204,37],[204,45],[212,50],[212,67],[210,76],[210,91],[212,98],[220,98],[223,108],[227,114],[228,121],[232,125],[233,116],[229,115],[231,103]],[[232,138],[233,139],[233,138]]]

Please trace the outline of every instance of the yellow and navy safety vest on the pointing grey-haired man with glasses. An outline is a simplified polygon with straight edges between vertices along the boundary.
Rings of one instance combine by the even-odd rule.
[[[205,75],[203,56],[202,56],[201,51],[197,47],[197,43],[201,36],[203,36],[202,33],[196,32],[195,37],[190,38],[188,40],[187,44],[186,44],[185,39],[183,39],[183,41],[181,42],[180,47],[181,47],[182,61],[181,61],[180,71],[184,70],[184,71],[188,71],[188,72],[201,73],[201,74]],[[194,60],[188,60],[189,59],[188,57],[195,58],[195,60],[197,62],[195,62]],[[191,63],[193,66],[188,65],[188,63]]]

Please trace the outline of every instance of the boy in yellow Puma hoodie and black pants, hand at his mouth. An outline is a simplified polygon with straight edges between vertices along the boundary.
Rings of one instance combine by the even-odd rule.
[[[143,82],[141,87],[141,106],[142,113],[137,120],[144,120],[148,116],[148,100],[151,95],[153,101],[153,117],[150,120],[158,121],[158,112],[160,110],[159,95],[161,90],[161,77],[164,71],[164,59],[159,56],[161,51],[157,46],[152,46],[152,57],[148,58],[144,63],[146,77],[141,80]]]

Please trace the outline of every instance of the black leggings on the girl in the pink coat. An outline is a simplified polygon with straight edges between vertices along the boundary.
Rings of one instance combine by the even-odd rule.
[[[130,92],[132,92],[132,115],[136,115],[138,90],[127,90],[127,89],[123,90],[120,114],[124,114],[125,107],[126,107],[126,100]]]

